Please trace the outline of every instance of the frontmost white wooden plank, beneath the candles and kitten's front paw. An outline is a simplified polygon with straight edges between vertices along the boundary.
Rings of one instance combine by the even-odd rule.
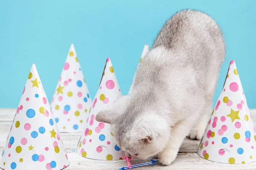
[[[116,161],[99,161],[86,159],[79,156],[77,153],[68,153],[70,158],[70,166],[67,170],[118,170],[121,167],[127,166],[125,160]],[[131,160],[131,164],[139,164],[144,161]],[[146,166],[136,168],[137,170],[255,170],[256,163],[251,164],[220,164],[202,159],[197,153],[179,153],[177,159],[170,166],[161,166],[156,163],[156,166]]]

